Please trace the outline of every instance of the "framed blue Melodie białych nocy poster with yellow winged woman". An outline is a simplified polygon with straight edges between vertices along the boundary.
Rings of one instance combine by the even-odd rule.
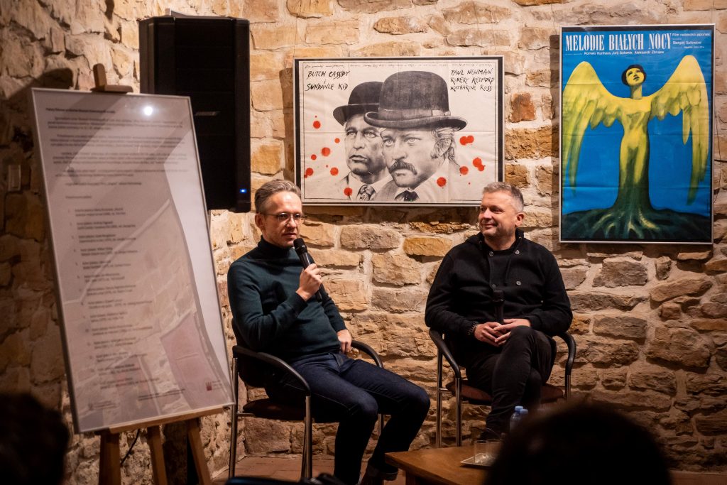
[[[712,242],[714,25],[561,28],[561,241]]]

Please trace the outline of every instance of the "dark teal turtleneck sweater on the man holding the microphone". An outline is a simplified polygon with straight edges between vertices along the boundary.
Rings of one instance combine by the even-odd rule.
[[[292,248],[260,239],[257,248],[233,262],[228,294],[238,343],[285,361],[314,353],[337,352],[337,332],[345,329],[326,292],[304,301],[295,290],[302,265]]]

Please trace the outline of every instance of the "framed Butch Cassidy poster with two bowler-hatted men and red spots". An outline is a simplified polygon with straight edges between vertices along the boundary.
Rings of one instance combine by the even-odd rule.
[[[472,206],[502,180],[502,56],[296,59],[304,204]]]

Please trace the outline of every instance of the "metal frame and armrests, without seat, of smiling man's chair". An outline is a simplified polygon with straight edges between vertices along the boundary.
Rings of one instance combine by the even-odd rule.
[[[443,385],[443,361],[446,359],[449,367],[454,373],[454,406],[455,406],[455,442],[457,446],[462,446],[462,384],[467,382],[462,379],[462,368],[454,360],[454,356],[449,346],[444,342],[442,334],[437,330],[430,329],[429,336],[437,347],[437,421],[435,430],[435,446],[441,448],[442,444],[442,396],[451,397],[453,392]],[[573,361],[576,356],[576,341],[568,332],[558,334],[557,337],[563,339],[568,345],[568,357],[566,358],[566,376],[565,386],[563,389],[563,397],[567,400],[571,393],[571,371],[573,370]],[[546,386],[543,386],[546,387]],[[486,401],[477,401],[476,404],[489,405]]]

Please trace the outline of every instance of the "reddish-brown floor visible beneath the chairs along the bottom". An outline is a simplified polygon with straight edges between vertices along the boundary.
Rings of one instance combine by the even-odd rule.
[[[365,466],[365,464],[364,464]],[[313,460],[313,476],[333,473],[333,460],[318,458]],[[284,481],[298,481],[300,478],[300,457],[244,457],[237,462],[236,476],[263,476]],[[727,485],[727,473],[672,472],[673,485]],[[224,485],[227,470],[214,477],[214,485]],[[403,473],[387,485],[404,485]]]

